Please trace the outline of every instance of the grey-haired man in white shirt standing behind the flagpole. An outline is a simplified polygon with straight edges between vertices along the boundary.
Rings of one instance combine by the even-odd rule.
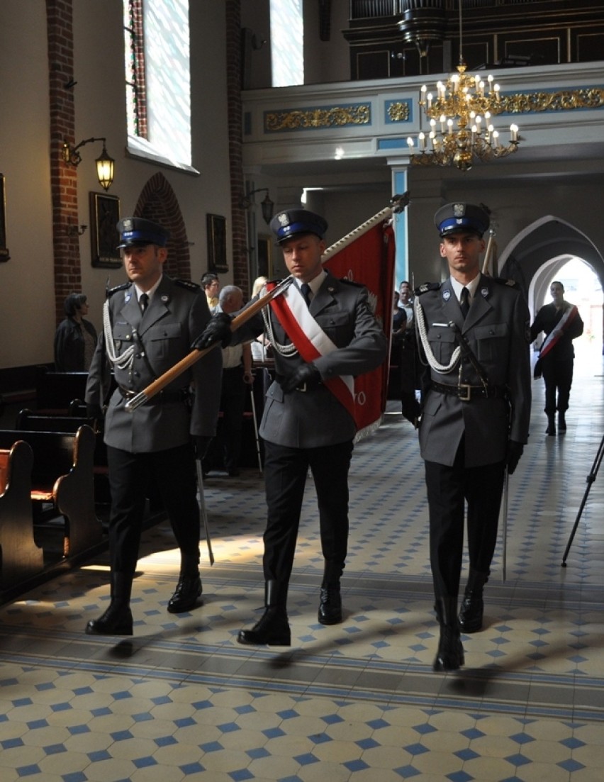
[[[214,313],[232,314],[243,307],[243,291],[236,285],[225,285]],[[252,349],[250,343],[229,345],[222,349],[222,389],[220,409],[222,423],[218,429],[217,444],[222,451],[228,475],[239,475],[243,412],[246,407],[246,389],[253,383]]]

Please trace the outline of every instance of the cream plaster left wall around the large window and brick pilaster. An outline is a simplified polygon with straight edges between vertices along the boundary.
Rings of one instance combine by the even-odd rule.
[[[23,13],[27,5],[27,13]],[[127,157],[124,115],[124,38],[121,0],[74,2],[76,142],[105,136],[115,159],[110,195],[120,198],[122,217],[134,210],[157,171],[170,182],[181,206],[191,247],[192,279],[207,270],[206,214],[227,217],[228,264],[230,174],[226,97],[225,4],[192,2],[191,67],[193,166],[199,175]],[[55,332],[52,210],[50,198],[49,76],[44,0],[0,3],[0,172],[7,184],[7,244],[11,260],[0,264],[0,368],[52,361]],[[102,192],[95,175],[100,143],[81,149],[77,170],[80,224],[90,226],[88,193]],[[59,150],[53,149],[52,154]],[[107,279],[124,282],[123,271],[93,268],[90,232],[80,238],[83,292],[90,320],[102,325]],[[232,271],[223,275],[232,280]]]

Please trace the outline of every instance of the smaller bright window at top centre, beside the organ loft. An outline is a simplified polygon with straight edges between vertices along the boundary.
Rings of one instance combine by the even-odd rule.
[[[303,0],[271,0],[272,86],[304,84]]]

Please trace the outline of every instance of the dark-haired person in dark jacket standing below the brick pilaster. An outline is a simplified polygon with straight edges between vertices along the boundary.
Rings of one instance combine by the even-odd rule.
[[[96,329],[84,315],[88,300],[84,293],[70,293],[63,304],[67,317],[55,332],[55,369],[57,372],[86,372],[96,346]]]

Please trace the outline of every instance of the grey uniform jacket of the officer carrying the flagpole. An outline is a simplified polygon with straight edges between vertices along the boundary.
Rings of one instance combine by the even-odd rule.
[[[364,286],[339,280],[328,272],[311,301],[310,311],[338,348],[314,362],[322,378],[362,375],[382,364],[387,353],[386,336],[372,313]],[[270,317],[276,341],[290,343],[272,310]],[[235,332],[236,340],[245,342],[263,330],[264,321],[257,314]],[[273,353],[277,379],[267,392],[261,436],[270,443],[292,448],[316,448],[354,439],[356,426],[351,415],[326,386],[283,393],[279,377],[292,375],[304,361],[299,353],[291,357],[276,350]]]

